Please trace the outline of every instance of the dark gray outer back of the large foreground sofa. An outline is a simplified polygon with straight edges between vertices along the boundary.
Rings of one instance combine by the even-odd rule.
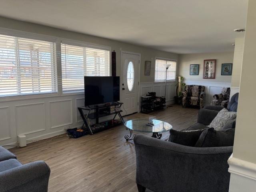
[[[188,147],[142,134],[136,135],[134,144],[137,184],[158,192],[228,192],[232,146]]]

